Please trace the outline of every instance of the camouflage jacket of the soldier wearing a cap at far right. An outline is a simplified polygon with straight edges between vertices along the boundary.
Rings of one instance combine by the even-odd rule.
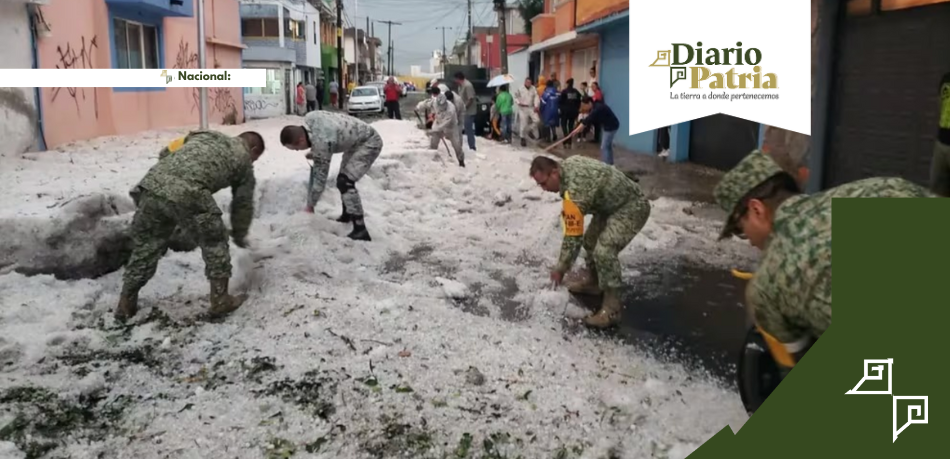
[[[831,325],[833,198],[934,197],[899,178],[872,178],[814,195],[798,195],[775,212],[765,254],[746,288],[756,323],[799,352]]]

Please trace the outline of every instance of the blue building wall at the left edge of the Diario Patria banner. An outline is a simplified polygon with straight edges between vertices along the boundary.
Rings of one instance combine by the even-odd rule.
[[[604,100],[620,120],[615,142],[641,153],[654,153],[656,131],[630,133],[630,20],[618,19],[597,29],[600,34],[600,69],[597,79]]]

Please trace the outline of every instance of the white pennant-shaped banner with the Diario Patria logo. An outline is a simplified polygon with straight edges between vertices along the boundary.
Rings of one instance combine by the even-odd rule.
[[[630,2],[630,132],[708,115],[811,135],[811,5]]]

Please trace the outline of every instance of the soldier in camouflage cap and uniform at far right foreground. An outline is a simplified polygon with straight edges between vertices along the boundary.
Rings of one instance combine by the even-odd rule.
[[[714,190],[729,213],[720,240],[736,235],[765,251],[746,289],[756,326],[789,369],[831,325],[833,198],[933,197],[900,178],[871,178],[803,195],[795,178],[754,151]]]

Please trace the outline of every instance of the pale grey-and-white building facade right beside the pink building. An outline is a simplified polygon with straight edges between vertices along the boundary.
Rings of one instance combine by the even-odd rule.
[[[320,12],[303,0],[242,0],[244,67],[267,70],[267,85],[245,88],[248,118],[292,113],[297,83],[322,76]]]

